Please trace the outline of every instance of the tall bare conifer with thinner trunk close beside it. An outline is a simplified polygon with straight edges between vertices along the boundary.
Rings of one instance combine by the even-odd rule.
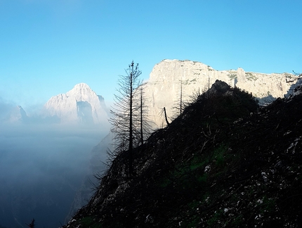
[[[119,89],[114,94],[114,108],[110,110],[112,133],[114,134],[114,151],[110,151],[111,159],[119,153],[127,153],[126,174],[133,175],[133,148],[143,144],[145,107],[143,102],[143,86],[139,76],[138,63],[133,61],[125,70],[126,75],[119,77]]]

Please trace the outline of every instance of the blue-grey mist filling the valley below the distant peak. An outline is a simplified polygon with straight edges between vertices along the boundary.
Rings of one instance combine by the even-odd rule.
[[[36,227],[60,227],[91,174],[91,150],[109,128],[34,119],[10,123],[3,118],[8,108],[10,104],[0,104],[0,225],[27,227],[34,218]],[[106,158],[100,151],[100,171]]]

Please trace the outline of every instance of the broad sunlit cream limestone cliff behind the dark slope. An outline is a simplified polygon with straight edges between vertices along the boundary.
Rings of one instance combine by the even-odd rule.
[[[291,86],[286,82],[287,75],[245,72],[242,68],[219,71],[196,61],[164,60],[153,68],[145,89],[150,119],[162,127],[164,117],[159,113],[164,107],[170,118],[177,113],[173,107],[179,106],[181,90],[183,101],[189,101],[193,94],[206,91],[216,80],[249,91],[259,99],[270,95],[283,97]]]

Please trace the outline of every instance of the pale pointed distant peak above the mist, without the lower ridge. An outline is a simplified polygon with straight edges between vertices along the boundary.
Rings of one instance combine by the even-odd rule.
[[[44,115],[57,117],[62,123],[92,125],[107,123],[108,120],[103,97],[85,83],[76,84],[66,94],[51,97],[44,105]]]

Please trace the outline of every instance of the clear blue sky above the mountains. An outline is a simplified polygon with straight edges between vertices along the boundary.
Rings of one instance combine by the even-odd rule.
[[[0,102],[25,110],[79,82],[110,103],[131,61],[301,72],[302,1],[0,0]]]

